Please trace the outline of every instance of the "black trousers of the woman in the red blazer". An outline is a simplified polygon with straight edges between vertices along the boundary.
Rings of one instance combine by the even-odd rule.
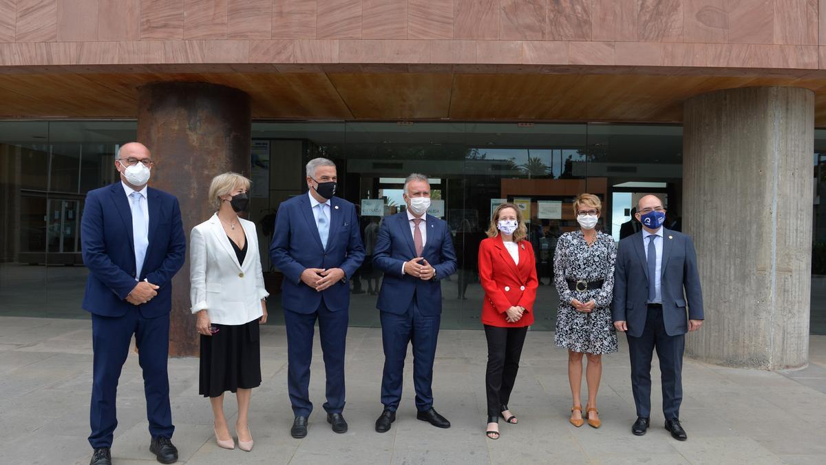
[[[485,325],[487,338],[487,415],[498,417],[501,405],[507,405],[514,389],[519,358],[528,327],[499,328]]]

